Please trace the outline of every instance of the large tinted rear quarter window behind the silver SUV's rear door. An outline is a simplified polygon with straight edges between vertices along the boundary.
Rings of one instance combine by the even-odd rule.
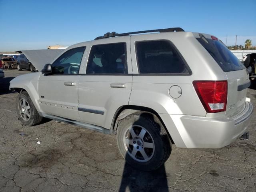
[[[136,53],[140,74],[189,74],[184,61],[167,40],[136,42]]]

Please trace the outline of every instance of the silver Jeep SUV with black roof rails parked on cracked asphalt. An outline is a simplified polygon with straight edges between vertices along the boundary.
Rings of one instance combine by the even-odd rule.
[[[22,124],[45,117],[116,134],[122,156],[142,170],[159,168],[172,144],[220,148],[243,135],[249,86],[215,36],[181,28],[107,33],[10,82]]]

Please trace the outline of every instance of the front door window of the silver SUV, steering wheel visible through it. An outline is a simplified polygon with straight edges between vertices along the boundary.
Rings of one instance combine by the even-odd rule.
[[[68,50],[52,64],[53,74],[78,74],[86,47]]]

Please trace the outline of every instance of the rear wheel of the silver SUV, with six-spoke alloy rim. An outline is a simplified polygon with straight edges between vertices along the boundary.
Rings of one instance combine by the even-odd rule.
[[[134,137],[132,130],[136,134]],[[142,132],[146,132],[144,136]],[[121,120],[117,128],[117,144],[126,162],[144,171],[158,169],[169,158],[172,150],[164,126],[154,114],[148,112],[136,112]]]

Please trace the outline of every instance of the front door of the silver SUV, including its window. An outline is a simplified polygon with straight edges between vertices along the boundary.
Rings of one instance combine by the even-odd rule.
[[[85,50],[86,46],[67,50],[53,62],[52,74],[40,75],[39,103],[44,113],[79,120],[78,74],[85,60]]]

